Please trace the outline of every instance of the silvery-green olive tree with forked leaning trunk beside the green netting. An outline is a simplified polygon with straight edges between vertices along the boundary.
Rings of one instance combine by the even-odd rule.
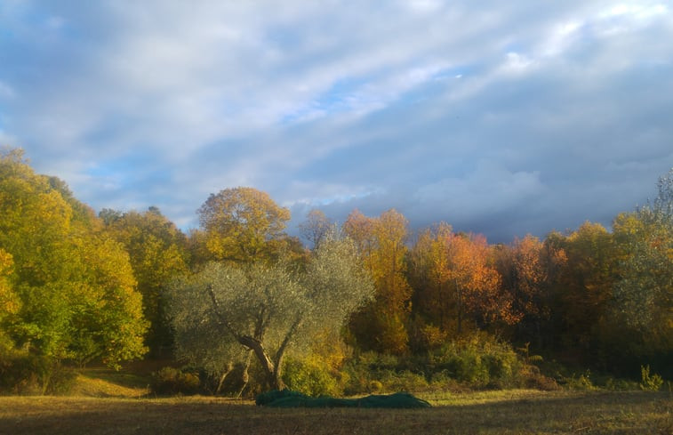
[[[332,235],[305,270],[211,262],[173,282],[168,295],[179,355],[226,374],[232,359],[252,352],[269,386],[283,389],[287,350],[341,327],[373,297],[373,284],[351,241]]]

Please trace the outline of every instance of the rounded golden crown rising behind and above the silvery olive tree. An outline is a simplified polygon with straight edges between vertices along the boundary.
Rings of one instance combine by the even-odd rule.
[[[270,259],[284,246],[290,211],[268,193],[253,188],[223,189],[198,209],[204,242],[212,260],[251,262]]]

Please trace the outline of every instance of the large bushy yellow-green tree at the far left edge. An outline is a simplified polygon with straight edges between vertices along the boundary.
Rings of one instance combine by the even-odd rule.
[[[12,256],[18,298],[13,342],[111,366],[142,355],[146,322],[128,254],[92,210],[62,181],[34,173],[20,150],[0,156],[0,209],[0,250]]]

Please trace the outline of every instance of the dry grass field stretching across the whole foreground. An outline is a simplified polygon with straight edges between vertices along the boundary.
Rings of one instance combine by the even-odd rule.
[[[435,407],[277,409],[213,398],[0,398],[2,434],[673,434],[670,393],[491,391]]]

